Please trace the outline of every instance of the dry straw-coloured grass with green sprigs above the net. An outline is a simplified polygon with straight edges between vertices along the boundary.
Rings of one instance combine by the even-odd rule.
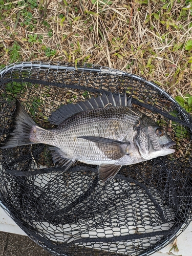
[[[173,97],[191,94],[191,1],[168,0],[165,7],[160,0],[40,0],[35,8],[31,2],[36,1],[0,0],[10,8],[1,7],[0,65],[15,60],[15,44],[19,61],[86,61],[140,75]],[[27,12],[32,17],[23,25]]]

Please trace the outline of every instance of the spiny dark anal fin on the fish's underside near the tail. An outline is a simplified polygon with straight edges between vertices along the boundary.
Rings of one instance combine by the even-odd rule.
[[[51,150],[53,162],[56,163],[56,166],[66,167],[65,170],[68,170],[72,164],[76,161],[66,158],[65,153],[63,153],[58,147],[49,147]]]

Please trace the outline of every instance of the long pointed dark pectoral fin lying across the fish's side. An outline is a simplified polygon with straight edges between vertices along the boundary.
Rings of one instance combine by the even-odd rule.
[[[129,154],[128,146],[130,145],[129,141],[119,141],[103,137],[94,137],[94,136],[81,136],[78,137],[81,139],[90,140],[95,142],[104,155],[112,160],[117,160],[124,155]]]

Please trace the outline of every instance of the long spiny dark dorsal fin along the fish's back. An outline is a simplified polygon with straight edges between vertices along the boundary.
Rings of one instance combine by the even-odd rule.
[[[132,106],[132,98],[130,97],[127,100],[126,93],[124,93],[123,96],[121,96],[119,93],[117,95],[110,92],[109,95],[106,95],[105,93],[102,94],[102,96],[98,97],[92,97],[91,99],[88,99],[86,101],[80,101],[77,104],[67,104],[61,106],[58,110],[53,112],[51,116],[49,117],[50,123],[53,124],[60,124],[67,118],[83,112],[88,111],[92,109],[98,109],[98,108],[105,108],[109,106]]]

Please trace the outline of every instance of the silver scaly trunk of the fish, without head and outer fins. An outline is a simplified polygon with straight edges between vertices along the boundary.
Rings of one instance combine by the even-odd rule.
[[[31,141],[56,146],[63,152],[63,157],[74,161],[97,165],[132,164],[141,158],[134,145],[134,137],[137,134],[135,126],[139,119],[139,115],[123,106],[89,110],[63,121],[56,129],[49,132],[35,127]],[[127,154],[121,156],[118,151],[119,145],[115,150],[115,145],[111,145],[110,140],[109,143],[104,141],[102,143],[102,139],[93,142],[89,139],[90,136],[103,140],[107,138],[112,141],[123,141]],[[130,152],[135,155],[131,157]]]

